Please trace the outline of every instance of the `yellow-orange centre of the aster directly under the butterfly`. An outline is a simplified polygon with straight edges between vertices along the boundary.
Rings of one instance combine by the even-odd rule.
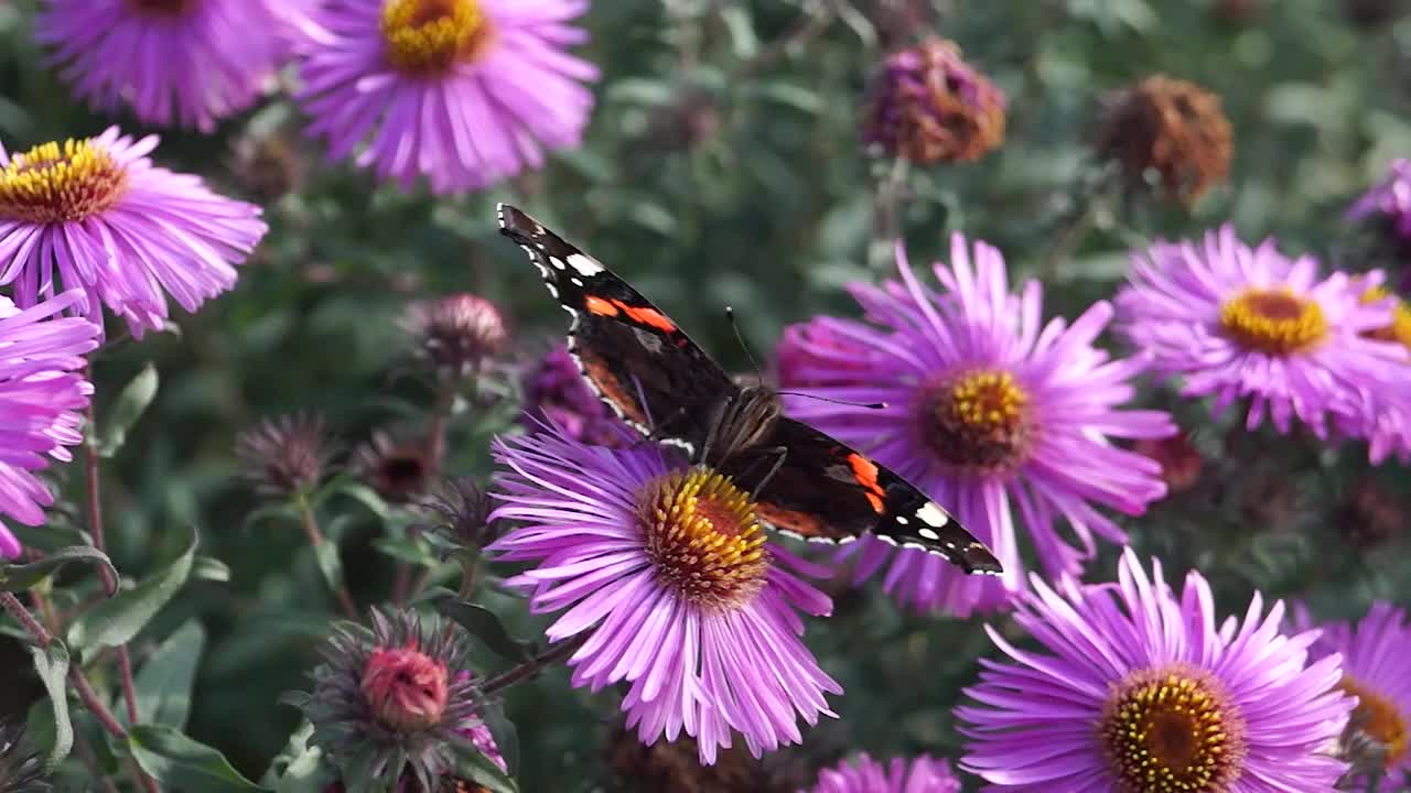
[[[687,603],[729,608],[765,586],[769,552],[755,505],[724,476],[660,476],[638,491],[636,516],[659,580]]]

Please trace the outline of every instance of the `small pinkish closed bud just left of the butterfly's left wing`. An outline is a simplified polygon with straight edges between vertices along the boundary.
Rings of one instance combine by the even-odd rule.
[[[418,351],[439,371],[466,375],[505,347],[505,320],[495,303],[468,293],[418,301],[406,308],[402,327]]]

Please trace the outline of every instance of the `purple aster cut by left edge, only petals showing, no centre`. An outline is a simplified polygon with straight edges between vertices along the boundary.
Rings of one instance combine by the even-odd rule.
[[[49,457],[72,459],[83,440],[79,411],[93,387],[79,374],[97,347],[99,329],[80,317],[49,319],[83,302],[69,291],[20,310],[0,298],[0,515],[27,526],[44,523],[54,495],[34,476]],[[20,555],[20,540],[0,521],[0,559]]]

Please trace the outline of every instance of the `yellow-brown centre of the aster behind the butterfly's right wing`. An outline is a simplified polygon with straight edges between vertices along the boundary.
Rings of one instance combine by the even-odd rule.
[[[983,473],[1023,461],[1029,395],[1007,371],[972,371],[928,389],[921,430],[948,464]]]

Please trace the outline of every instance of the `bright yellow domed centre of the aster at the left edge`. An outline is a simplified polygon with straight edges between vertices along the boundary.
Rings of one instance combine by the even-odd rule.
[[[83,220],[117,203],[127,171],[86,140],[37,145],[0,171],[0,217],[25,223]]]

